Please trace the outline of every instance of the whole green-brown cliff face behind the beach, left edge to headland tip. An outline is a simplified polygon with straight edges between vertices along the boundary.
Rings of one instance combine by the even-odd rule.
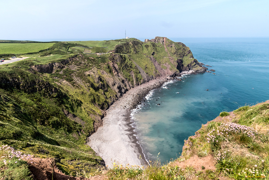
[[[132,87],[186,70],[204,71],[183,43],[160,37],[123,43],[102,56],[76,55],[47,64],[25,60],[2,66],[0,140],[59,158],[67,174],[89,172],[71,167],[78,157],[88,159],[82,167],[89,161],[90,167],[102,163],[84,143],[102,125],[105,110]]]

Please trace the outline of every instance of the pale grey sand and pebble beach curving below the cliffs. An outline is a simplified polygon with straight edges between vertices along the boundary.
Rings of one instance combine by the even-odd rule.
[[[160,77],[136,86],[106,110],[103,126],[89,137],[88,145],[104,159],[109,168],[113,167],[114,162],[122,165],[146,164],[141,147],[133,135],[133,128],[129,125],[129,110],[135,108],[150,90],[160,87],[169,79],[171,77]]]

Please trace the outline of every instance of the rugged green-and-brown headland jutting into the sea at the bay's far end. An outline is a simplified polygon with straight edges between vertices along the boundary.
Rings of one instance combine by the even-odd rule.
[[[145,39],[145,42],[133,40],[116,46],[112,52],[126,53],[136,57],[142,56],[144,59],[149,59],[160,76],[178,75],[182,71],[189,70],[193,70],[193,72],[204,72],[206,70],[202,64],[194,59],[189,47],[181,42],[173,42],[164,37]],[[141,66],[143,65],[141,64]]]

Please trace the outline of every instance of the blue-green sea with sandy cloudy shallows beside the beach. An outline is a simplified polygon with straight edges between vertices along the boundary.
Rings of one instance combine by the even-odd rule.
[[[269,100],[269,38],[171,40],[190,47],[194,58],[215,72],[171,80],[150,91],[132,111],[132,126],[147,161],[176,159],[184,140],[222,111]]]

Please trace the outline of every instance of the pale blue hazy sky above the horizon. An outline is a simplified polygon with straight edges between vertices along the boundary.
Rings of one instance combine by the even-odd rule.
[[[1,0],[1,40],[269,37],[268,0]]]

